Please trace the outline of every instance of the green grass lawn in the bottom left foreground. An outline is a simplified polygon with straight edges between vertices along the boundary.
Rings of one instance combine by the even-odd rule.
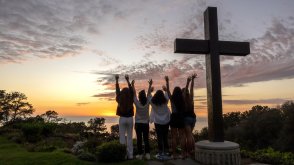
[[[74,155],[62,151],[53,152],[28,152],[20,144],[16,144],[0,136],[0,164],[1,165],[102,165],[104,163],[87,162],[76,158]],[[116,163],[115,165],[141,165],[144,161],[132,160]],[[109,163],[108,163],[109,165]]]

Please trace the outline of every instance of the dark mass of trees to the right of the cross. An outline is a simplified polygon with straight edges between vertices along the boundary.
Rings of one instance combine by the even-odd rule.
[[[249,150],[272,147],[294,152],[294,102],[277,108],[256,105],[245,112],[224,114],[227,140]]]

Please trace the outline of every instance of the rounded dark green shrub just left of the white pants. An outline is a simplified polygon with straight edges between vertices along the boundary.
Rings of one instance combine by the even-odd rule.
[[[126,146],[118,141],[102,144],[97,148],[97,157],[101,162],[119,162],[125,159]]]

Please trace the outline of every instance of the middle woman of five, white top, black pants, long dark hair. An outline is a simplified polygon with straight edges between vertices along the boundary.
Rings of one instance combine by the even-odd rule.
[[[162,90],[157,90],[151,99],[151,114],[150,122],[155,125],[155,132],[157,135],[158,155],[157,158],[161,159],[163,156],[168,155],[168,128],[170,121],[170,109],[167,106],[169,97]]]

